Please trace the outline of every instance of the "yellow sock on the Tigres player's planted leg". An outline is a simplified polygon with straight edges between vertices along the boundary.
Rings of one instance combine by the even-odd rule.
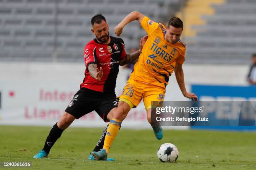
[[[118,134],[121,123],[122,122],[117,119],[110,120],[110,123],[108,125],[108,130],[106,133],[106,137],[104,140],[104,145],[103,145],[103,149],[106,150],[107,154],[108,154],[111,144],[113,143],[116,135]]]

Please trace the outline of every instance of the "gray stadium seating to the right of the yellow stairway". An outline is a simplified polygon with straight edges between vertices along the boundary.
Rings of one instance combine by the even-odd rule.
[[[256,0],[226,0],[212,5],[215,15],[202,16],[196,37],[186,38],[190,63],[248,64],[256,52]]]

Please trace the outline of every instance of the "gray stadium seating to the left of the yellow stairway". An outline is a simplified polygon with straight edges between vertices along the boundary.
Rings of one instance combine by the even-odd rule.
[[[115,26],[133,10],[159,20],[179,0],[0,0],[0,61],[83,62],[84,46],[94,38],[90,19],[102,13]],[[145,35],[138,23],[121,36],[126,50]]]

